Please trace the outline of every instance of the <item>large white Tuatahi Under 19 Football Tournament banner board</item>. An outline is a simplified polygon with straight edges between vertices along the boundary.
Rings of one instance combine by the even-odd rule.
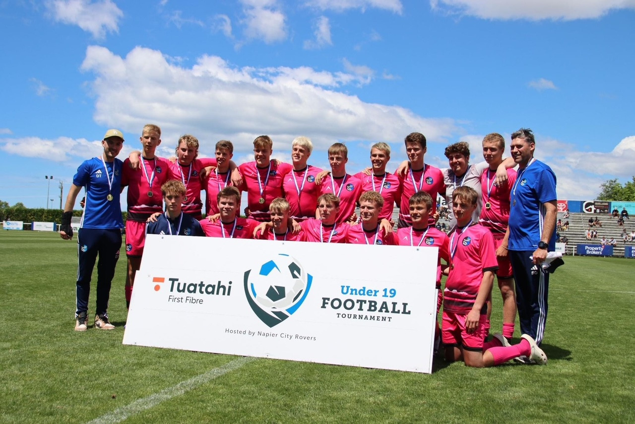
[[[437,255],[148,235],[123,343],[431,373]]]

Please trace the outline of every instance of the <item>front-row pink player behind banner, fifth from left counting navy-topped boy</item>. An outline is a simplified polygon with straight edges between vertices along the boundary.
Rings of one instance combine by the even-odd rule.
[[[359,197],[361,222],[349,228],[347,243],[396,245],[394,233],[380,226],[379,212],[384,207],[384,198],[377,191],[365,191]],[[385,225],[390,228],[388,221]]]

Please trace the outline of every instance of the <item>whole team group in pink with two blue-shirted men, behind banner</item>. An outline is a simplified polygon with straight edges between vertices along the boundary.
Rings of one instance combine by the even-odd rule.
[[[451,144],[445,150],[445,169],[425,163],[425,137],[411,133],[404,139],[408,161],[394,174],[386,172],[391,148],[382,142],[371,147],[371,167],[351,175],[342,143],[328,149],[330,171],[308,165],[312,143],[307,137],[293,140],[288,164],[271,160],[272,140],[261,135],[253,142],[255,160],[239,166],[231,161],[233,146],[227,140],[217,143],[215,158],[199,159],[198,140],[184,135],[175,161],[156,156],[161,143],[156,125],[146,125],[140,141],[142,151],[122,162],[116,156],[123,133],[105,133],[102,155],[80,165],[67,197],[60,231],[64,239],[72,238],[72,210],[81,188],[86,189],[77,235],[77,331],[88,328],[88,294],[97,256],[95,327],[114,328],[107,306],[122,240],[119,194],[127,186],[128,306],[146,233],[436,246],[439,288],[441,275],[448,275],[443,295],[439,292],[443,317],[437,329],[446,359],[476,367],[511,359],[547,362],[540,343],[549,273],[541,264],[547,251],[554,250],[556,177],[533,158],[531,130],[512,134],[511,157],[505,160],[505,140],[497,133],[483,139],[485,161],[474,165],[469,164],[467,143]],[[518,173],[512,169],[516,165]],[[241,191],[247,191],[246,218],[239,216]],[[434,227],[438,194],[451,205],[448,235]],[[391,222],[394,203],[399,206],[396,233]],[[503,297],[503,326],[502,334],[488,340],[495,275]],[[517,309],[523,334],[520,343],[510,345]]]

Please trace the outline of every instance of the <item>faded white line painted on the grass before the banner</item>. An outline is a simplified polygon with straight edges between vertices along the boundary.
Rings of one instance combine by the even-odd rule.
[[[248,364],[249,362],[255,360],[257,358],[253,357],[242,357],[239,359],[234,359],[231,362],[228,362],[222,367],[210,369],[210,371],[199,374],[195,377],[190,378],[189,380],[181,381],[175,386],[168,387],[161,392],[154,393],[153,395],[149,395],[142,399],[137,399],[131,404],[127,406],[122,406],[120,408],[115,409],[114,411],[104,414],[98,418],[95,418],[93,421],[89,421],[88,424],[113,424],[120,423],[123,420],[126,420],[131,415],[138,414],[146,409],[150,409],[151,407],[157,406],[161,402],[165,400],[170,400],[173,397],[177,397],[182,395],[193,388],[196,388],[208,381],[214,380],[217,377],[220,377],[224,374],[229,373],[230,371],[234,371],[239,369],[240,367]]]

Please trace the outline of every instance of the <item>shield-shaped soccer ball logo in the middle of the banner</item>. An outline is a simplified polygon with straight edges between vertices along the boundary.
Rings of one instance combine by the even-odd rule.
[[[258,318],[273,327],[298,310],[311,280],[297,259],[277,254],[244,273],[244,291]]]

